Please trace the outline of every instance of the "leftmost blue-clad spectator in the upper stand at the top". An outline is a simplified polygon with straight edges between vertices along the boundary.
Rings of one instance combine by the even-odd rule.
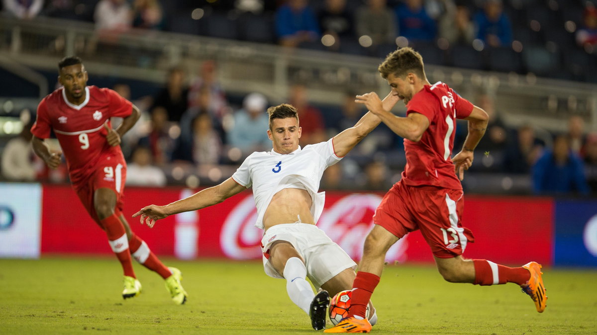
[[[319,26],[307,0],[287,0],[276,11],[276,33],[282,46],[296,47],[319,38]]]

